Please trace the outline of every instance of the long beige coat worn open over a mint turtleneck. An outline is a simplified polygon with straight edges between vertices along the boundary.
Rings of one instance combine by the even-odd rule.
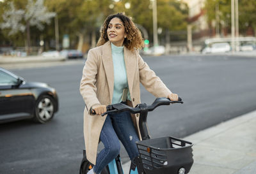
[[[171,91],[164,85],[158,76],[152,71],[146,62],[138,54],[137,50],[131,52],[124,47],[124,60],[127,71],[127,80],[132,99],[132,106],[140,101],[140,82],[150,93],[156,97],[167,97]],[[108,41],[104,45],[92,48],[88,52],[87,61],[83,69],[83,77],[80,84],[80,92],[86,106],[84,108],[84,141],[87,159],[95,164],[99,136],[106,116],[90,115],[93,105],[110,105],[114,89],[114,69],[111,54],[111,44]],[[138,122],[140,115],[132,115],[134,126],[141,140]]]

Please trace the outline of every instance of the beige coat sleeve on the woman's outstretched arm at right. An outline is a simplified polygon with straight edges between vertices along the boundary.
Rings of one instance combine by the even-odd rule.
[[[149,68],[148,64],[143,61],[140,54],[138,54],[138,64],[140,71],[140,82],[153,94],[156,98],[167,98],[168,94],[172,93],[163,81],[156,76],[156,73]]]

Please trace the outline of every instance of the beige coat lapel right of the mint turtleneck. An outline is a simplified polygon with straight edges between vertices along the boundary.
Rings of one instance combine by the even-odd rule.
[[[132,85],[134,81],[134,73],[135,73],[135,55],[128,50],[128,48],[124,47],[124,61],[125,61],[125,68],[127,73],[127,81],[129,86],[129,91],[132,97]]]

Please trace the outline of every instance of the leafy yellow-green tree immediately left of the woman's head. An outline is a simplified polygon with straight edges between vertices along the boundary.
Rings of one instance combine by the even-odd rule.
[[[71,47],[82,50],[85,45],[95,47],[97,34],[103,20],[113,13],[111,0],[54,0],[46,1],[47,7],[58,14],[60,36],[68,34]],[[88,48],[83,49],[85,52]]]

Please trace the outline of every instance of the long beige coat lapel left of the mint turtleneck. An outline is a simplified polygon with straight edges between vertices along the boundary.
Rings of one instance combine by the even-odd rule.
[[[111,44],[109,41],[102,46],[102,62],[108,80],[110,103],[112,103],[114,91],[114,66],[111,52]]]

